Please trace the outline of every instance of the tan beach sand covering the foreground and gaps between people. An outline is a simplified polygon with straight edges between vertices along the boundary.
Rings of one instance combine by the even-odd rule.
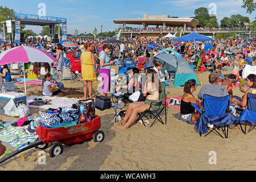
[[[224,73],[231,73],[225,71]],[[199,73],[200,82],[208,84],[209,72]],[[65,97],[83,97],[82,82],[71,84],[63,82],[66,89],[71,89]],[[96,90],[97,84],[93,84]],[[23,85],[18,85],[22,88]],[[201,86],[197,87],[195,96]],[[28,96],[40,91],[40,86],[28,86]],[[183,94],[183,89],[168,88],[168,97],[177,97]],[[99,93],[94,92],[93,97]],[[234,95],[242,96],[238,88]],[[60,95],[61,96],[61,95]],[[31,115],[39,115],[39,109],[31,108]],[[229,138],[222,139],[216,134],[200,137],[195,126],[188,125],[174,118],[172,114],[179,110],[168,109],[167,125],[156,123],[153,127],[133,125],[129,130],[120,131],[109,124],[114,118],[114,110],[96,110],[101,116],[101,130],[105,133],[102,143],[93,140],[73,146],[64,146],[62,155],[51,158],[49,148],[46,151],[46,164],[39,164],[40,150],[31,149],[15,156],[1,164],[2,170],[255,170],[256,169],[256,130],[243,134],[238,128],[229,131]],[[3,117],[7,121],[16,118]],[[12,148],[9,148],[13,150]],[[210,151],[216,152],[217,164],[210,165]],[[21,155],[24,155],[25,160]]]

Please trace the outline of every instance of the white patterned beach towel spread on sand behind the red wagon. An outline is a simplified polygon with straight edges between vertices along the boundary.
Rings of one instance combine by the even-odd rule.
[[[35,98],[42,98],[43,101],[51,100],[51,105],[30,105],[30,103],[34,102]],[[33,108],[42,108],[42,109],[49,109],[49,108],[59,108],[59,107],[72,107],[73,104],[76,104],[78,99],[76,98],[66,98],[66,97],[50,97],[50,96],[31,96],[27,97],[28,107]]]

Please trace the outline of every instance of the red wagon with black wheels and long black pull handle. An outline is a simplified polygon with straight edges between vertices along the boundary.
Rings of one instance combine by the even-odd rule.
[[[85,142],[90,138],[93,138],[94,142],[102,142],[105,134],[103,131],[99,130],[101,128],[101,118],[98,115],[95,115],[95,117],[96,118],[91,122],[66,128],[58,127],[48,129],[39,126],[38,129],[36,129],[36,134],[39,135],[39,139],[36,140],[36,142],[30,143],[26,147],[20,148],[10,155],[5,156],[5,158],[0,159],[0,164],[30,148],[36,147],[44,150],[48,147],[48,144],[52,142],[54,143],[49,150],[49,154],[52,158],[63,153],[62,144],[70,146],[72,144]]]

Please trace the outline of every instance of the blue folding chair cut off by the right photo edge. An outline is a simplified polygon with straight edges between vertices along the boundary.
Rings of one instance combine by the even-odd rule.
[[[242,129],[242,126],[241,126],[241,129],[242,129],[242,132],[244,134],[246,134],[246,126],[247,124],[250,125],[250,129],[248,131],[248,133],[250,133],[253,129],[255,129],[256,125],[253,125],[253,123],[256,124],[256,120],[255,120],[255,115],[256,115],[256,95],[255,94],[251,94],[251,93],[248,93],[248,96],[247,96],[247,101],[248,101],[248,104],[247,104],[247,110],[243,110],[242,114],[241,114],[241,117],[240,117],[240,126],[241,126],[241,121],[245,121],[245,131],[243,131]]]

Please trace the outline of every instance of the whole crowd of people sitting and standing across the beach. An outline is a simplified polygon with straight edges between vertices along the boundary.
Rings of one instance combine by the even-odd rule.
[[[170,28],[170,27],[169,27]],[[146,72],[146,84],[142,86],[143,92],[139,102],[129,104],[126,115],[122,121],[123,126],[118,129],[128,129],[131,124],[136,120],[139,113],[147,109],[157,110],[159,95],[162,92],[162,84],[165,84],[165,77],[167,73],[162,73],[163,64],[158,61],[153,61],[154,56],[164,48],[172,48],[177,53],[192,65],[196,61],[196,57],[202,57],[201,67],[212,67],[210,70],[209,84],[203,85],[198,97],[193,96],[193,92],[197,89],[195,80],[188,80],[184,85],[184,96],[181,100],[181,117],[189,121],[198,121],[199,114],[195,112],[195,108],[191,103],[200,105],[203,95],[210,94],[216,97],[223,97],[230,95],[233,104],[239,107],[245,107],[248,93],[256,92],[256,76],[249,75],[246,79],[246,86],[249,89],[241,92],[245,93],[243,98],[233,98],[232,88],[233,85],[240,80],[241,72],[247,64],[255,65],[255,41],[246,39],[218,39],[213,42],[172,42],[171,39],[165,38],[123,38],[122,43],[104,44],[104,38],[92,39],[69,39],[77,43],[76,48],[63,47],[59,43],[46,42],[40,40],[42,47],[53,56],[56,57],[57,62],[53,65],[48,63],[40,65],[34,63],[29,68],[28,78],[40,78],[43,80],[42,90],[43,94],[47,96],[54,96],[64,90],[57,89],[57,85],[51,86],[52,75],[49,74],[50,67],[55,66],[59,76],[62,75],[62,68],[65,65],[65,57],[69,52],[73,52],[74,57],[81,59],[81,73],[82,80],[84,81],[84,99],[88,98],[87,92],[89,91],[89,98],[92,98],[93,86],[92,83],[97,81],[97,73],[102,78],[101,93],[103,96],[108,97],[110,92],[110,69],[114,65],[114,59],[130,58],[134,63],[137,63],[137,69],[131,69],[130,79],[127,81],[127,86],[117,88],[131,90],[134,92],[138,90],[138,79],[134,75],[139,75],[145,68],[146,64],[150,64]],[[26,42],[26,46],[36,46],[38,40],[34,42]],[[150,45],[156,45],[148,48]],[[211,48],[206,49],[208,45]],[[2,51],[6,51],[14,47],[14,45],[2,45]],[[229,77],[224,77],[221,74],[222,69],[225,67],[233,67],[233,74]],[[4,81],[11,81],[10,69],[7,65],[1,66],[1,77]],[[136,78],[136,79],[135,79]],[[1,79],[0,79],[1,80]],[[220,80],[222,85],[220,85]],[[131,86],[130,86],[131,85]],[[88,88],[89,87],[89,88]]]

